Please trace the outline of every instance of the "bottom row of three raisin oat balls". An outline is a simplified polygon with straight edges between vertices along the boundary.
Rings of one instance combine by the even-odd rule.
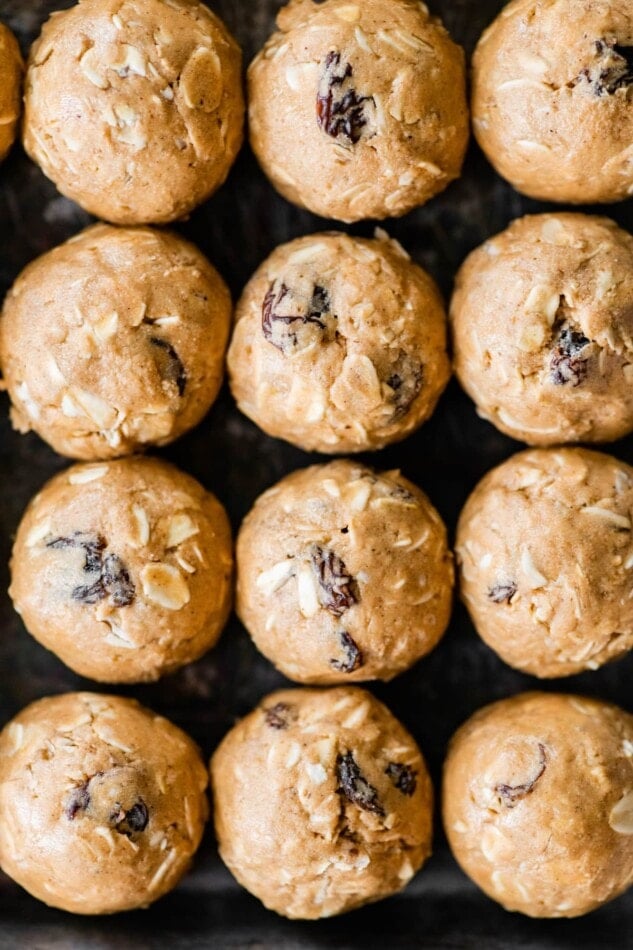
[[[266,907],[329,917],[401,890],[431,853],[414,738],[357,687],[265,697],[211,760],[220,854]],[[145,907],[200,844],[208,773],[129,699],[41,699],[0,734],[0,866],[81,914]],[[443,817],[463,869],[508,910],[574,917],[633,883],[633,716],[524,693],[455,734]]]

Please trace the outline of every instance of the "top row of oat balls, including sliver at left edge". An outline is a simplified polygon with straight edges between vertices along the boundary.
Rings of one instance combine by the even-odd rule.
[[[277,25],[249,69],[249,118],[282,195],[324,217],[385,218],[460,174],[465,58],[423,3],[291,0]],[[475,134],[521,191],[578,203],[631,194],[632,31],[627,0],[514,0],[481,37]],[[20,77],[2,30],[3,151]],[[239,47],[194,0],[80,0],[31,49],[27,152],[105,220],[187,214],[226,178],[243,118]]]

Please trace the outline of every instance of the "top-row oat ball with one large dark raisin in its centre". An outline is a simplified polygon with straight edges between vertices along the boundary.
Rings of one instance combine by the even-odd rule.
[[[250,66],[253,151],[325,218],[405,214],[461,171],[464,53],[414,0],[291,0]]]

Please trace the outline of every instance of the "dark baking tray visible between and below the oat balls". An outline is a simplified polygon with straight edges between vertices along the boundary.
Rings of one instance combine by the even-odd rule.
[[[71,5],[72,0],[0,0],[0,19],[18,34],[26,51],[49,12]],[[240,41],[245,63],[272,31],[280,5],[280,0],[211,0]],[[430,5],[470,53],[503,4],[501,0],[432,0]],[[548,207],[552,206],[512,191],[472,145],[460,181],[425,208],[386,226],[414,260],[431,271],[448,297],[455,271],[473,247],[512,218]],[[606,212],[633,230],[630,201]],[[62,198],[16,147],[0,167],[0,296],[28,261],[90,220]],[[245,147],[227,184],[178,230],[201,247],[237,295],[277,244],[332,226],[279,198]],[[373,225],[364,223],[348,230],[371,236]],[[478,419],[453,382],[433,418],[418,433],[364,460],[381,468],[401,468],[428,492],[453,531],[460,507],[479,478],[520,447]],[[633,463],[633,438],[611,450]],[[207,419],[160,454],[214,491],[227,506],[235,528],[260,492],[287,472],[319,459],[259,432],[240,415],[226,388]],[[0,725],[40,696],[78,688],[108,689],[75,676],[36,644],[5,593],[11,539],[22,511],[43,482],[66,464],[36,436],[12,432],[8,401],[0,397]],[[478,639],[463,608],[456,605],[450,628],[431,656],[391,684],[371,688],[418,739],[437,788],[449,737],[484,703],[542,688],[586,693],[632,710],[632,681],[633,655],[597,672],[540,683],[498,660]],[[233,619],[219,646],[198,663],[157,684],[111,691],[135,696],[174,720],[208,756],[237,718],[284,683]],[[45,907],[0,874],[0,947],[620,950],[633,947],[633,890],[602,910],[572,921],[533,921],[508,914],[462,874],[436,820],[434,855],[404,894],[343,917],[292,922],[266,911],[235,883],[217,856],[209,828],[193,872],[173,894],[147,911],[72,917]]]

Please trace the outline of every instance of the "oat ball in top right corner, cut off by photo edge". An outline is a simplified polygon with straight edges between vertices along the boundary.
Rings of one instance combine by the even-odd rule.
[[[523,194],[633,194],[629,0],[514,0],[479,40],[472,83],[477,141]]]

